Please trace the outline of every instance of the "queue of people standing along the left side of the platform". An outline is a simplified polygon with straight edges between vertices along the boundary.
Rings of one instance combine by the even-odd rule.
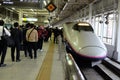
[[[57,43],[57,37],[58,35],[61,35],[58,28],[51,29],[49,27],[44,28],[44,26],[36,27],[31,23],[27,23],[25,26],[20,26],[18,22],[15,22],[13,27],[11,27],[10,30],[7,30],[4,27],[4,21],[0,20],[0,67],[6,66],[6,64],[4,64],[4,60],[7,52],[7,44],[5,40],[2,39],[4,34],[11,36],[15,43],[14,46],[10,47],[12,62],[20,62],[21,49],[24,51],[25,57],[36,59],[37,50],[42,51],[43,42],[48,42],[49,39],[51,40],[52,32],[54,34],[53,42]]]

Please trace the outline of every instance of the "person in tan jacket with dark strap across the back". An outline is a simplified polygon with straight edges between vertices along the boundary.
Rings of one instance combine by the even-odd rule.
[[[38,32],[35,29],[34,24],[30,24],[30,29],[26,32],[26,40],[28,41],[28,52],[30,58],[33,58],[32,50],[34,50],[34,59],[37,58],[37,42],[38,42]]]

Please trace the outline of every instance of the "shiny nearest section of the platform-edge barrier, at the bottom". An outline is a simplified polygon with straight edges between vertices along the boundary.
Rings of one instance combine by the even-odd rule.
[[[67,80],[85,80],[82,72],[78,68],[71,54],[66,54],[66,79]]]

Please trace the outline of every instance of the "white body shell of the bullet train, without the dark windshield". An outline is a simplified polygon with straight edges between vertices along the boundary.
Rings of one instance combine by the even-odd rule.
[[[91,30],[74,29],[76,24],[77,23],[71,22],[63,25],[64,36],[71,49],[79,56],[85,58],[105,58],[107,49],[102,41]]]

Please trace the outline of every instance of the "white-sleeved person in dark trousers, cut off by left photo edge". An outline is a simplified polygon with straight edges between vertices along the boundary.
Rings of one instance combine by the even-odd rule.
[[[7,51],[6,41],[2,38],[2,36],[11,35],[10,32],[5,27],[3,27],[3,25],[4,25],[4,21],[0,20],[0,56],[1,56],[0,67],[6,66],[6,64],[4,64],[4,59],[5,59],[6,51]]]

